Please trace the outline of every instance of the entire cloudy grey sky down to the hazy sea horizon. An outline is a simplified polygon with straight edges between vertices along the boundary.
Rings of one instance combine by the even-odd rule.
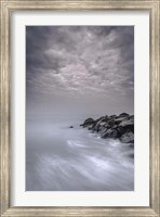
[[[133,26],[26,26],[27,114],[134,113]]]

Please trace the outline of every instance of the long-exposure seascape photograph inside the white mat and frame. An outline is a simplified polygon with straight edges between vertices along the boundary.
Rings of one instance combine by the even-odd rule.
[[[134,26],[26,26],[26,191],[134,191]]]

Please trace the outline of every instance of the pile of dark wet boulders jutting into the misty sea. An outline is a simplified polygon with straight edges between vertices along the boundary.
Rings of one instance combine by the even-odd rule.
[[[119,139],[123,143],[134,144],[134,115],[121,113],[120,115],[106,115],[98,119],[89,117],[80,126],[101,135],[104,139]]]

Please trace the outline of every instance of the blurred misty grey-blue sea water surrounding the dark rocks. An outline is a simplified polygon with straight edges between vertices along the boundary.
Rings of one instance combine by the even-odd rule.
[[[27,191],[134,190],[133,148],[81,128],[83,120],[27,115]]]

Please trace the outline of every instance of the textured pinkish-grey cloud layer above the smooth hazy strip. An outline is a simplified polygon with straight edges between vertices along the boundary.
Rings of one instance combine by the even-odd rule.
[[[27,26],[26,84],[28,99],[41,93],[133,101],[134,27]]]

